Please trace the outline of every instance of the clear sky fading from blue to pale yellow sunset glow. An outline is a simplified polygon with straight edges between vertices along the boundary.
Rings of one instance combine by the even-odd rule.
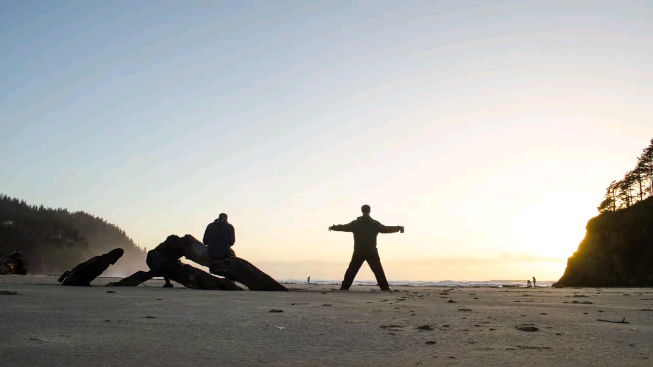
[[[341,279],[556,280],[653,137],[650,1],[2,1],[0,191],[151,249]],[[366,265],[358,279],[374,279]]]

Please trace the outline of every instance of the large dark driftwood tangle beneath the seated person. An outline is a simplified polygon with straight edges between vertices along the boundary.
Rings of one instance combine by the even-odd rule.
[[[225,278],[217,278],[198,268],[194,268],[188,264],[182,264],[178,261],[181,265],[176,263],[166,264],[165,261],[155,261],[155,255],[157,254],[152,254],[153,251],[167,251],[168,253],[178,251],[176,253],[177,255],[182,253],[186,259],[207,266],[213,274]],[[186,234],[183,237],[175,235],[168,236],[165,242],[162,242],[157,248],[148,253],[148,259],[148,266],[150,266],[149,272],[139,271],[121,281],[109,283],[108,285],[135,287],[156,276],[164,276],[163,272],[161,272],[162,269],[159,267],[167,265],[173,271],[168,271],[168,274],[165,275],[185,287],[193,289],[240,289],[240,287],[233,283],[233,281],[238,281],[252,291],[287,291],[286,287],[279,284],[278,281],[244,259],[229,257],[212,261],[212,259],[208,258],[206,246],[190,234]],[[177,259],[174,260],[176,261]]]

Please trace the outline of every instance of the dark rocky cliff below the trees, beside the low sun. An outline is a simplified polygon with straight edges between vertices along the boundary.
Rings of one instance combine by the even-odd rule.
[[[588,221],[553,287],[653,286],[653,197]]]

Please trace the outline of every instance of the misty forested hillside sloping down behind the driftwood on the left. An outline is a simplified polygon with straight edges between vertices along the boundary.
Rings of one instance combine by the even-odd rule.
[[[144,263],[144,247],[101,217],[29,205],[0,193],[0,257],[22,251],[29,272],[63,272],[116,247],[125,250],[123,257]]]

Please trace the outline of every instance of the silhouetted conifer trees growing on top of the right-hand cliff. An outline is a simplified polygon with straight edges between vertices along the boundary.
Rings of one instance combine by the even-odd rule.
[[[616,212],[651,196],[653,196],[653,139],[637,158],[635,168],[626,172],[622,180],[610,183],[597,209],[601,213]]]

